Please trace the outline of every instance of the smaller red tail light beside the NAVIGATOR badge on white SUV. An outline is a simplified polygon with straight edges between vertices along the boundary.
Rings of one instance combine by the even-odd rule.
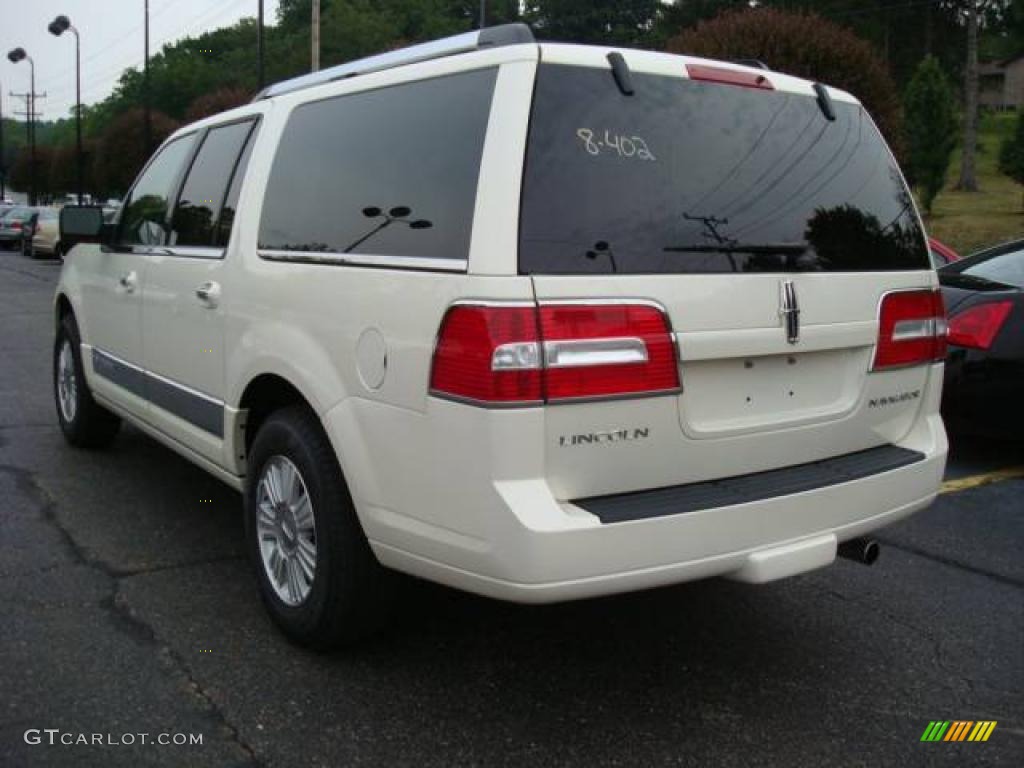
[[[882,299],[872,371],[921,366],[946,356],[946,312],[939,291],[896,291]]]

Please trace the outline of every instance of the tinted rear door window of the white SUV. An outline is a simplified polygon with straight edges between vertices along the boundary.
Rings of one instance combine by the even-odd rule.
[[[206,134],[181,186],[169,245],[214,245],[231,174],[252,129],[250,120],[212,128]]]

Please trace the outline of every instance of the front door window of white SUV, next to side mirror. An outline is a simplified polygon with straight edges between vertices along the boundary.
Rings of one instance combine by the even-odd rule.
[[[195,136],[165,144],[153,159],[125,201],[118,243],[124,246],[162,246],[167,241],[168,199],[188,159]]]

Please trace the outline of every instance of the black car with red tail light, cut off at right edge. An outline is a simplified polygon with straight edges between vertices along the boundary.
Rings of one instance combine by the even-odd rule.
[[[946,425],[954,433],[1024,439],[1024,240],[938,273],[949,317]]]

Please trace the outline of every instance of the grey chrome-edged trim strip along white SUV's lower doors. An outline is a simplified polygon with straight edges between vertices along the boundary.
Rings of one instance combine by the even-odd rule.
[[[132,394],[215,437],[224,436],[224,402],[92,348],[92,369]]]

